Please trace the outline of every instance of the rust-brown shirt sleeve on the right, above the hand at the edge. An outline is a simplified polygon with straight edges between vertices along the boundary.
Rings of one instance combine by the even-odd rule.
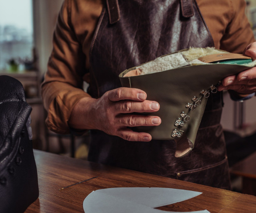
[[[221,48],[233,53],[242,53],[243,50],[255,41],[250,23],[244,13],[244,0],[230,0],[230,22],[221,39]]]

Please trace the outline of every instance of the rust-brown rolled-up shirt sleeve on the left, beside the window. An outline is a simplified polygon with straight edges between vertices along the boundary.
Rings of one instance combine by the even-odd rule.
[[[53,36],[53,49],[48,69],[42,83],[42,98],[47,109],[47,127],[57,133],[70,132],[68,120],[73,107],[83,97],[90,97],[83,90],[86,55],[82,51],[71,24],[71,2],[65,0],[58,16]]]

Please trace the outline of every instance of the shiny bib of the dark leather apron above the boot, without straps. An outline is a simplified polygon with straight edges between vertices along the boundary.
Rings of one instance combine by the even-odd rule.
[[[120,20],[110,25],[105,6],[91,44],[87,92],[99,98],[121,86],[118,75],[127,68],[189,46],[214,46],[195,1],[193,9],[185,18],[180,0],[119,0]]]

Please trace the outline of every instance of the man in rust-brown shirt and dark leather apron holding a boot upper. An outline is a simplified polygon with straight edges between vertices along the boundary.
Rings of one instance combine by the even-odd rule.
[[[234,53],[247,48],[244,54],[255,59],[244,7],[244,0],[65,0],[42,85],[48,127],[62,134],[91,130],[90,161],[229,189],[222,93],[209,97],[193,151],[175,158],[175,141],[127,128],[160,125],[159,117],[130,114],[160,106],[140,89],[121,88],[118,75],[189,46]],[[255,73],[225,78],[218,90],[247,97],[256,91]],[[83,80],[90,83],[88,93]]]

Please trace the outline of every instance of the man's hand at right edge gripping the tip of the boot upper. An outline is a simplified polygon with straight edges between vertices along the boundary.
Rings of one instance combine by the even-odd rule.
[[[244,49],[244,55],[256,60],[256,42],[251,43]],[[245,97],[256,92],[256,67],[240,72],[238,75],[231,75],[222,80],[222,85],[218,86],[218,91],[232,89]]]

